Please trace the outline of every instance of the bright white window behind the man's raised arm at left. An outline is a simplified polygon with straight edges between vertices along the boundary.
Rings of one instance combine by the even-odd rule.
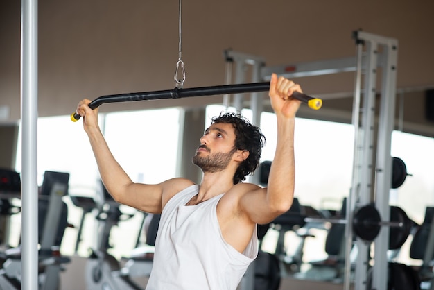
[[[180,112],[177,108],[112,112],[99,115],[101,130],[114,157],[134,182],[157,183],[175,176]],[[155,126],[158,124],[158,126]],[[69,194],[94,196],[99,190],[99,175],[92,148],[81,123],[73,123],[69,116],[40,117],[37,128],[37,176],[42,184],[44,171],[70,173]],[[164,134],[161,134],[164,132]],[[21,132],[17,148],[15,170],[21,172]],[[62,254],[73,255],[82,210],[69,198],[69,223],[62,240]],[[125,212],[135,210],[124,207]],[[113,228],[110,243],[112,255],[130,255],[139,235],[141,213]],[[12,216],[11,246],[19,244],[21,215]],[[96,243],[96,222],[88,214],[84,222],[82,242],[78,254],[89,255],[89,247]],[[124,239],[124,237],[130,237]]]

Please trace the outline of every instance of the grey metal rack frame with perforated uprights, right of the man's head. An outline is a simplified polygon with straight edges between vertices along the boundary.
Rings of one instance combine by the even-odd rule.
[[[390,156],[392,130],[394,128],[394,108],[397,74],[397,40],[382,37],[363,31],[354,31],[356,41],[356,58],[340,58],[319,62],[305,62],[296,65],[283,65],[279,67],[265,67],[262,58],[249,56],[234,51],[225,51],[227,63],[236,62],[236,83],[243,83],[246,66],[252,65],[252,78],[269,80],[272,72],[286,78],[301,76],[319,76],[336,74],[347,71],[356,72],[354,85],[354,103],[352,123],[354,126],[354,160],[351,191],[347,198],[349,213],[356,208],[368,203],[374,204],[383,217],[384,225],[390,224],[389,192],[392,178],[392,157]],[[364,50],[363,50],[364,49]],[[232,69],[232,65],[228,66]],[[288,69],[290,68],[290,69]],[[381,68],[381,89],[377,89],[377,72]],[[290,71],[290,72],[288,72]],[[363,88],[362,86],[363,75]],[[380,85],[378,85],[380,87]],[[363,93],[363,94],[362,94]],[[376,94],[380,96],[380,108],[377,135],[375,136],[375,105]],[[363,95],[363,99],[361,96]],[[227,98],[227,96],[225,96]],[[227,103],[227,100],[225,100]],[[253,120],[260,126],[260,114],[262,112],[262,99],[256,95],[251,96],[250,101],[253,112]],[[234,96],[234,107],[240,111],[243,102],[240,95]],[[376,147],[374,147],[376,142]],[[374,152],[376,148],[376,155]],[[372,177],[375,177],[375,181]],[[253,176],[253,182],[257,177]],[[374,192],[373,192],[374,191]],[[375,196],[375,198],[373,197]],[[354,234],[351,228],[353,216],[347,214],[345,228],[345,277],[344,289],[350,289],[351,263],[350,253]],[[378,237],[374,240],[374,265],[372,266],[372,289],[387,289],[388,282],[388,239],[389,228],[382,227]],[[369,266],[370,243],[356,237],[358,258],[356,262],[355,289],[365,290],[367,284],[367,270]],[[250,267],[254,268],[254,267]],[[242,289],[253,289],[252,275],[254,271],[248,271],[243,280]]]

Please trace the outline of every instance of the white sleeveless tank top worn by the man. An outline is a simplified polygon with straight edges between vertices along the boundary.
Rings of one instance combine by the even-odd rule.
[[[186,205],[198,191],[199,185],[191,185],[164,207],[146,290],[235,290],[257,257],[256,227],[239,253],[223,239],[218,224],[216,207],[223,194]]]

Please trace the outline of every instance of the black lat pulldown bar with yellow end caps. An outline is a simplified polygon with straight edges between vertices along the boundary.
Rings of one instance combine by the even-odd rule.
[[[270,83],[248,83],[236,85],[217,85],[214,87],[194,87],[191,89],[166,89],[155,92],[139,92],[129,94],[113,94],[100,96],[89,103],[89,108],[94,110],[103,103],[121,103],[130,101],[148,101],[158,99],[180,99],[189,96],[213,96],[217,94],[241,94],[250,92],[266,92],[270,89]],[[300,92],[293,92],[293,98],[302,101],[309,105],[313,110],[319,110],[322,106],[322,100],[307,96]],[[80,119],[80,115],[76,112],[71,114],[71,120],[76,122]]]

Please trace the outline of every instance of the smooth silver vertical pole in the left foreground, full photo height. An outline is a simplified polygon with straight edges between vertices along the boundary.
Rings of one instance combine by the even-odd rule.
[[[21,0],[21,289],[37,285],[37,0]]]

